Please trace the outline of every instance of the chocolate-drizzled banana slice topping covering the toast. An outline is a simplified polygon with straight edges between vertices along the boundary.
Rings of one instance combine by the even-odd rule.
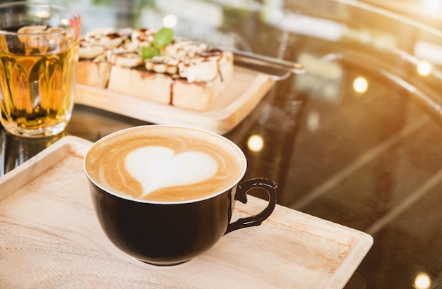
[[[80,58],[106,61],[115,66],[134,68],[144,64],[146,70],[167,73],[188,82],[208,82],[219,75],[223,51],[211,49],[207,44],[176,38],[160,49],[160,55],[141,59],[141,47],[152,47],[155,30],[116,30],[101,28],[88,32],[80,43]]]

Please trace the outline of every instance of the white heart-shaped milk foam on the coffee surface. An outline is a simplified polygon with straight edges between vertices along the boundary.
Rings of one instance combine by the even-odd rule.
[[[141,147],[125,159],[126,169],[143,186],[145,197],[150,192],[175,185],[190,185],[215,175],[217,162],[204,152],[176,154],[160,146]]]

